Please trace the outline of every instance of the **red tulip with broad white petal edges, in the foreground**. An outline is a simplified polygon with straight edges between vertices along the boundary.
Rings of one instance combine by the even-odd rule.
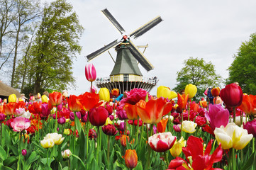
[[[175,140],[171,132],[163,132],[148,137],[148,144],[155,152],[165,152],[172,148]]]

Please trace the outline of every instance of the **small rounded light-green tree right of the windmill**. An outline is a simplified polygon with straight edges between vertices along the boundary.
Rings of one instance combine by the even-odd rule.
[[[220,86],[221,76],[216,74],[214,65],[205,62],[203,59],[189,57],[184,60],[184,67],[177,72],[177,86],[174,91],[185,89],[187,84],[194,84],[198,92],[196,97],[203,96],[206,87]]]

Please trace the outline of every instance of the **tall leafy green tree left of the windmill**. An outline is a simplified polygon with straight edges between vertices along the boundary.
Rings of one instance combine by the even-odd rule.
[[[72,60],[82,50],[79,37],[83,30],[72,5],[65,0],[44,8],[30,52],[33,66],[28,74],[33,76],[34,93],[45,88],[65,89],[74,83]]]

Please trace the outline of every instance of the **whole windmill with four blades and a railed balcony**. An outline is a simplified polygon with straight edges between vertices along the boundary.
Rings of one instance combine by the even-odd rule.
[[[146,59],[143,53],[140,52],[138,47],[134,45],[130,38],[140,37],[160,23],[162,18],[157,16],[137,30],[134,30],[132,33],[126,34],[126,31],[111,15],[108,9],[104,9],[101,12],[104,13],[106,18],[108,18],[113,26],[121,33],[122,37],[119,40],[116,39],[108,45],[101,47],[99,50],[92,52],[90,55],[87,55],[87,60],[91,61],[112,47],[115,47],[117,52],[116,62],[110,77],[96,79],[96,86],[98,88],[106,87],[109,91],[112,89],[119,89],[121,93],[126,90],[130,91],[133,88],[142,88],[150,91],[152,87],[157,84],[157,77],[152,79],[143,77],[143,74],[141,74],[138,67],[138,63],[141,64],[141,66],[144,67],[148,72],[154,67]]]

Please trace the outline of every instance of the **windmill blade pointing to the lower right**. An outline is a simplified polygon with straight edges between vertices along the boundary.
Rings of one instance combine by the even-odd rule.
[[[143,53],[140,52],[138,47],[136,47],[132,41],[129,41],[130,45],[127,45],[130,52],[133,54],[136,60],[147,70],[150,71],[151,69],[154,69],[152,64],[146,59],[146,57],[143,55]]]

